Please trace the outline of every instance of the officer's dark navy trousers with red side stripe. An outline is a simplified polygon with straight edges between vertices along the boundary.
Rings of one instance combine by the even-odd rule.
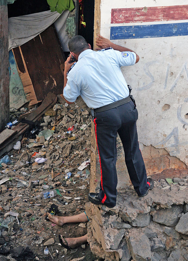
[[[111,207],[115,206],[117,197],[117,133],[123,144],[125,163],[135,191],[140,196],[149,188],[144,160],[139,149],[137,119],[138,111],[132,101],[104,112],[97,112],[93,119],[101,168],[98,197],[103,204]]]

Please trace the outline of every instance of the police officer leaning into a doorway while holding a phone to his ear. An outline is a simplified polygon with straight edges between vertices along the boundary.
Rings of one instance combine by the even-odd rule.
[[[146,196],[154,184],[152,179],[147,179],[138,144],[138,112],[130,99],[129,88],[120,69],[121,66],[137,63],[139,56],[101,35],[96,38],[96,44],[99,47],[97,50],[107,50],[91,50],[90,44],[79,35],[70,39],[71,54],[65,62],[63,95],[69,104],[74,103],[80,95],[87,106],[93,108],[101,184],[99,193],[89,193],[88,198],[94,204],[114,207],[117,197],[117,133],[121,138],[127,170],[138,196]],[[71,55],[76,63],[72,61]]]

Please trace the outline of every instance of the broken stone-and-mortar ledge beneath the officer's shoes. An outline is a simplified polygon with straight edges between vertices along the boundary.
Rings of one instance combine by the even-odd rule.
[[[188,175],[160,179],[148,195],[118,191],[114,208],[86,204],[88,242],[105,261],[188,260]]]

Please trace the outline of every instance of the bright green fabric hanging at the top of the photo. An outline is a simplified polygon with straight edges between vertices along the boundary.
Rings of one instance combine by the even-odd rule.
[[[61,14],[63,10],[72,11],[74,9],[73,0],[47,0],[47,3],[50,6],[51,12],[57,11]]]

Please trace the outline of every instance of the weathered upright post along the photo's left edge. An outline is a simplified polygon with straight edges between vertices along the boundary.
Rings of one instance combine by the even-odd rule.
[[[7,1],[0,0],[0,132],[9,122],[8,14]]]

